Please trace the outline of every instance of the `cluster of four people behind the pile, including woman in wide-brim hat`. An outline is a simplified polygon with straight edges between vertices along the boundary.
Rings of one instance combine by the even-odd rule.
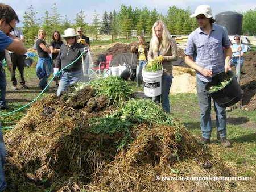
[[[45,37],[46,31],[40,29],[35,44],[38,52],[38,63],[36,64],[36,74],[40,80],[38,86],[42,90],[45,89],[47,80],[53,72],[58,87],[57,95],[60,95],[68,89],[69,85],[78,82],[82,78],[81,58],[64,69],[61,74],[58,74],[59,70],[75,61],[82,53],[82,48],[88,47],[90,41],[88,37],[82,34],[81,27],[77,27],[76,31],[73,28],[68,28],[62,36],[59,31],[54,31],[49,46],[46,44]],[[63,37],[63,41],[61,37]],[[50,54],[52,57],[50,57]]]

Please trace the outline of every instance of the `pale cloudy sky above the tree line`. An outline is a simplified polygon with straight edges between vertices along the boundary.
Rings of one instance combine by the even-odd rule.
[[[207,4],[212,7],[213,15],[216,15],[224,11],[236,11],[243,12],[250,9],[256,8],[256,1],[254,0],[1,0],[2,3],[6,3],[13,7],[19,16],[19,19],[23,20],[24,12],[28,10],[28,7],[32,5],[35,11],[38,12],[37,18],[44,15],[44,12],[51,12],[53,3],[56,3],[58,12],[64,16],[67,15],[69,20],[73,22],[76,14],[82,9],[86,14],[86,22],[92,23],[92,15],[94,10],[97,14],[100,14],[100,18],[104,11],[113,11],[114,9],[119,11],[119,7],[124,4],[126,6],[143,8],[147,6],[148,9],[152,10],[156,8],[158,12],[166,15],[169,6],[177,6],[182,9],[190,7],[191,10],[195,10],[198,5]],[[22,25],[18,24],[18,26]]]

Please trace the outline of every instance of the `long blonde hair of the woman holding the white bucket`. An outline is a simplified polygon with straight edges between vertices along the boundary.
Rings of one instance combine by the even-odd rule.
[[[162,40],[160,42],[159,45],[159,40],[158,37],[155,34],[155,27],[158,26],[160,24],[160,26],[162,27],[163,33],[162,33]],[[154,52],[158,52],[158,50],[160,52],[166,52],[167,49],[169,48],[170,44],[172,41],[172,37],[166,27],[166,24],[164,24],[164,22],[162,20],[157,20],[153,27],[152,27],[152,39],[150,41],[150,45],[152,46],[152,50]]]

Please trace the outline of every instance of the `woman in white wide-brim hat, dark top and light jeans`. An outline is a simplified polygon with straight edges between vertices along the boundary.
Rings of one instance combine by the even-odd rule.
[[[77,43],[77,34],[73,28],[68,28],[64,31],[64,44],[60,47],[59,55],[57,56],[54,74],[56,75],[59,71],[59,66],[64,68],[71,64],[79,57],[82,53],[84,45]],[[68,87],[82,79],[82,60],[81,57],[73,65],[68,66],[60,74],[60,82],[57,90],[57,95],[61,95],[63,91],[66,91]]]

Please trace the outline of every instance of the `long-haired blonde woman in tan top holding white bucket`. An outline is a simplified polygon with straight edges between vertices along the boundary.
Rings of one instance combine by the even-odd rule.
[[[164,111],[170,112],[169,92],[172,84],[172,61],[177,60],[177,44],[172,39],[166,24],[158,20],[152,27],[152,39],[148,51],[148,61],[162,55],[163,76],[162,76],[162,95],[153,97],[154,102],[162,103]]]

